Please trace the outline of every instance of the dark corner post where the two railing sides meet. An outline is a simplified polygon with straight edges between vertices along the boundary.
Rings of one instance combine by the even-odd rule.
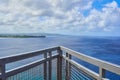
[[[57,80],[62,80],[62,50],[58,49]]]

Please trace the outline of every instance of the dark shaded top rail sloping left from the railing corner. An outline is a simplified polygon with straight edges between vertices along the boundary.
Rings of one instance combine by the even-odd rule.
[[[27,59],[27,58],[30,58],[30,57],[34,57],[34,56],[44,54],[46,52],[55,51],[55,50],[58,50],[58,49],[59,49],[59,47],[52,47],[52,48],[46,48],[46,49],[42,49],[42,50],[31,51],[31,52],[27,52],[27,53],[20,53],[20,54],[17,54],[17,55],[1,57],[0,58],[0,64],[2,64],[3,62],[4,62],[4,64],[6,64],[6,63],[10,63],[10,62],[19,61],[19,60],[22,60],[22,59]]]

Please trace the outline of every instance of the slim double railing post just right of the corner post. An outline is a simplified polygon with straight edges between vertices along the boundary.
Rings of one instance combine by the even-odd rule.
[[[68,59],[71,59],[71,55],[66,53],[66,57],[68,57]],[[71,76],[71,64],[66,60],[66,80],[70,80],[70,76]]]

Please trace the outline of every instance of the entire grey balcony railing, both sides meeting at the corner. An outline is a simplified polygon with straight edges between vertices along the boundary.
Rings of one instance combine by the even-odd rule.
[[[36,61],[6,70],[9,63],[39,55],[42,57]],[[99,67],[99,73],[81,65],[72,57]],[[0,58],[0,80],[105,80],[106,71],[120,75],[120,66],[62,46]]]

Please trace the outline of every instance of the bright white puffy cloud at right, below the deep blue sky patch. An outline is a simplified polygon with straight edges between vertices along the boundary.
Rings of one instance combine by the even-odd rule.
[[[82,25],[86,30],[112,31],[120,26],[120,8],[113,1],[105,5],[102,10],[92,9],[87,17],[84,17]],[[85,27],[87,26],[87,27]]]

